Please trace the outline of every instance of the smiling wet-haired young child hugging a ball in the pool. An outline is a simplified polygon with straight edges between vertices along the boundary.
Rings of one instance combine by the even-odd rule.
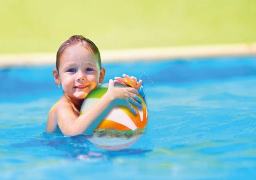
[[[137,113],[132,105],[142,108],[138,89],[142,80],[123,75],[110,80],[108,91],[89,110],[79,116],[83,100],[102,83],[105,76],[100,52],[96,45],[82,36],[72,36],[58,49],[55,83],[62,84],[63,96],[50,109],[46,132],[64,135],[91,134],[113,105],[125,105]],[[114,82],[131,88],[114,88]]]

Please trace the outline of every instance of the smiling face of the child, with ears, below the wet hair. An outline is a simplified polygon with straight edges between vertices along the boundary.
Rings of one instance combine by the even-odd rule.
[[[71,99],[84,99],[92,89],[102,83],[97,56],[81,44],[68,47],[60,56],[59,81],[65,95]],[[103,69],[105,70],[105,69]],[[55,80],[56,82],[56,80]]]

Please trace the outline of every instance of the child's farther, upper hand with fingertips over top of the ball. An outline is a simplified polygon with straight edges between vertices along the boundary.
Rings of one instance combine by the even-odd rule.
[[[123,74],[122,77],[115,77],[114,78],[114,83],[120,83],[120,84],[126,84],[127,86],[130,86],[135,89],[140,89],[140,86],[142,85],[142,80],[137,81],[137,78],[135,77],[130,77],[129,75]]]

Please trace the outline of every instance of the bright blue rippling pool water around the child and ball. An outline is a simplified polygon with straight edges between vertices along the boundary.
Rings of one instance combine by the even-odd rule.
[[[104,64],[142,78],[148,125],[105,151],[44,132],[62,95],[53,66],[0,70],[0,179],[255,179],[256,57]]]

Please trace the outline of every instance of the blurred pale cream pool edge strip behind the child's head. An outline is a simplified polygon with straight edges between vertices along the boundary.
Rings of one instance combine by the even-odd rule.
[[[190,47],[138,48],[101,51],[102,63],[163,61],[217,56],[255,56],[256,43],[200,45]],[[56,53],[0,54],[0,68],[55,64]]]

